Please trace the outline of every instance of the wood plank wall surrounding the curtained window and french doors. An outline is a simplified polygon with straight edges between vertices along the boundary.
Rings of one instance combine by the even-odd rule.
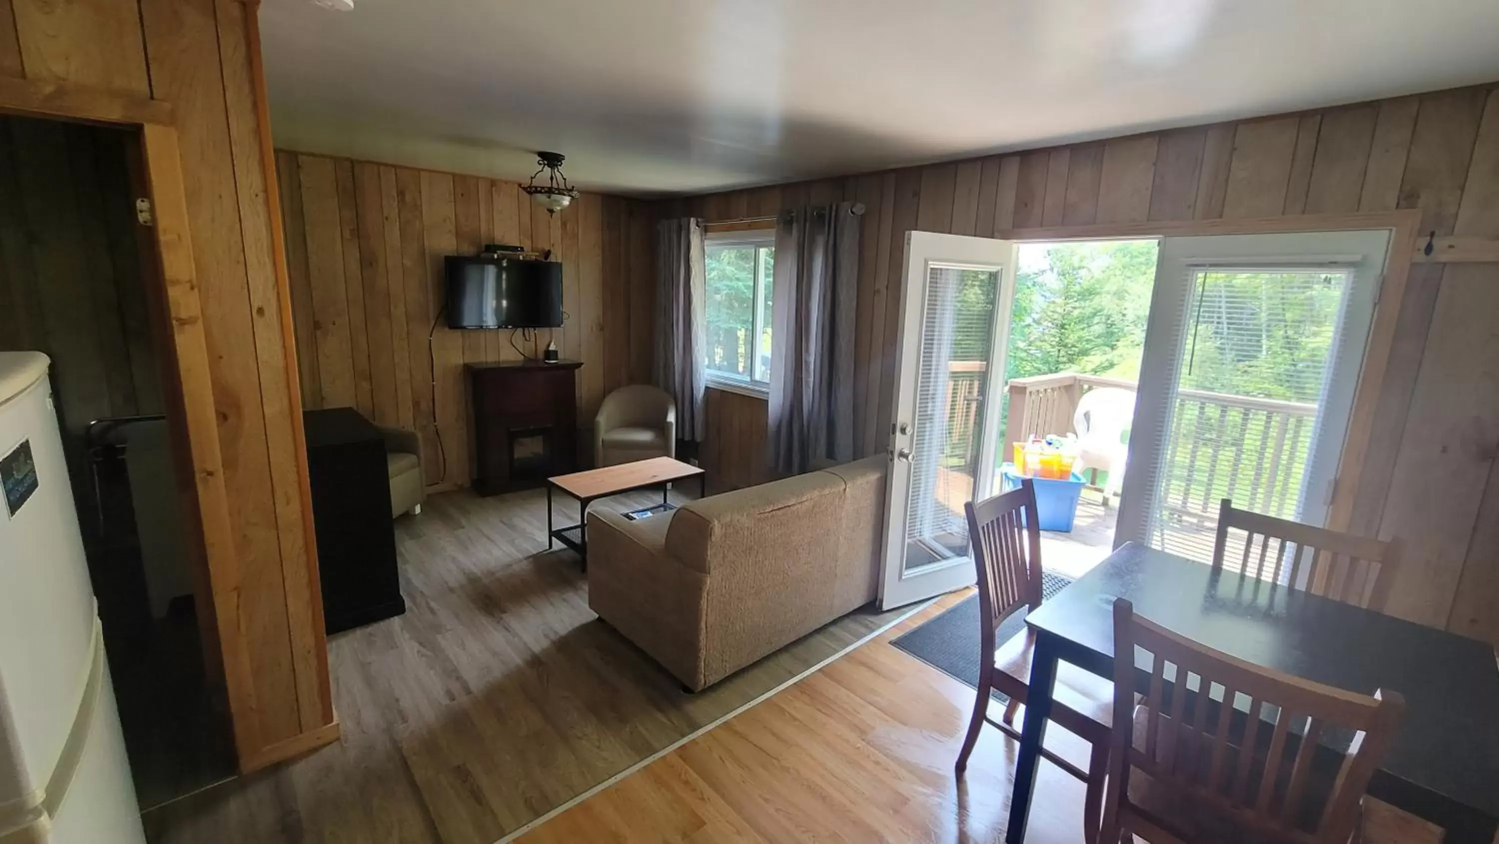
[[[884,448],[910,229],[991,237],[1103,222],[1420,208],[1421,234],[1499,237],[1499,85],[658,202],[708,222],[859,199],[857,447]],[[1400,535],[1394,615],[1499,643],[1499,264],[1417,264],[1354,529]],[[714,393],[711,391],[711,397]],[[724,405],[729,409],[730,405]],[[735,402],[760,417],[764,403]],[[763,460],[709,414],[705,454]],[[726,478],[748,469],[718,466]]]

